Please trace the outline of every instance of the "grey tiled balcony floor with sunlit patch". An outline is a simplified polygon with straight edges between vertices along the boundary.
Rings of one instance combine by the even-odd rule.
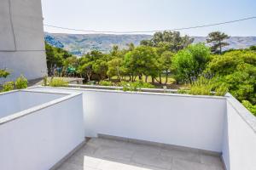
[[[90,139],[58,170],[224,170],[218,156],[113,139]]]

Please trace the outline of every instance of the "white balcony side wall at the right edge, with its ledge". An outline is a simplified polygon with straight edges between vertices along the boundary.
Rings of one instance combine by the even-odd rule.
[[[236,99],[227,99],[227,119],[223,145],[223,158],[228,170],[256,169],[256,131],[246,122],[255,122],[251,115]]]

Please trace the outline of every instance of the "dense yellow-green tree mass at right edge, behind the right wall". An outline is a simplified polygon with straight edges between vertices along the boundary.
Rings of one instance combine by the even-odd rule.
[[[205,72],[218,77],[218,83],[225,83],[236,99],[256,104],[256,53],[235,50],[214,56]]]

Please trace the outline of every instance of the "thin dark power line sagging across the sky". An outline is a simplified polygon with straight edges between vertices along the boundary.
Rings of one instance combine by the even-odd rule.
[[[239,19],[239,20],[230,20],[230,21],[225,21],[225,22],[213,23],[213,24],[208,24],[208,25],[189,26],[189,27],[175,28],[175,29],[170,29],[170,30],[154,30],[154,31],[95,31],[95,30],[81,30],[81,29],[67,28],[67,27],[61,27],[61,26],[53,26],[53,25],[49,25],[49,24],[44,24],[44,26],[49,26],[52,28],[58,28],[58,29],[62,29],[62,30],[70,30],[70,31],[84,31],[84,32],[93,32],[93,33],[113,33],[113,34],[132,34],[132,33],[154,33],[157,31],[162,32],[162,31],[190,30],[190,29],[203,28],[203,27],[208,27],[208,26],[226,25],[226,24],[230,24],[230,23],[240,22],[243,20],[253,20],[253,19],[256,19],[256,16],[243,18],[243,19]]]

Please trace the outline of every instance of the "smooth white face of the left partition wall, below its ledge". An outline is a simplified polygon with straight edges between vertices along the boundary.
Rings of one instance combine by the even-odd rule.
[[[84,141],[82,95],[0,125],[0,168],[46,170]]]

